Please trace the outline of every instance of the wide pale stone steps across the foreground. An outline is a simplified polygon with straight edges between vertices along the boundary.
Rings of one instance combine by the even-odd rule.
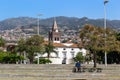
[[[98,65],[101,73],[73,73],[72,64],[0,64],[0,80],[120,80],[120,65]],[[85,65],[92,67],[92,65]]]

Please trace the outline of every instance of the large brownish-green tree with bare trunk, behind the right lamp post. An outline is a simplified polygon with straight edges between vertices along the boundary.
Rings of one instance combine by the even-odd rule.
[[[106,35],[105,35],[106,34]],[[81,42],[83,47],[93,54],[94,67],[96,67],[97,52],[119,50],[118,42],[115,38],[115,31],[92,25],[85,25],[80,31]]]

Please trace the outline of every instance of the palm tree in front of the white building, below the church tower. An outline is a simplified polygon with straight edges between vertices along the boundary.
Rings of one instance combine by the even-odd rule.
[[[51,53],[55,53],[57,55],[57,52],[54,50],[55,47],[53,46],[52,42],[49,42],[48,44],[45,45],[45,52],[47,53],[47,58],[50,58]]]

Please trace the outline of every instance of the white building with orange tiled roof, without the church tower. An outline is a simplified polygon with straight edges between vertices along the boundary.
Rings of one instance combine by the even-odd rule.
[[[79,49],[77,44],[74,43],[54,43],[55,53],[51,53],[50,60],[51,64],[71,64],[73,63],[73,58],[77,55],[78,52],[82,52],[83,56],[86,55],[85,49]],[[46,57],[47,53],[42,55],[42,57]]]

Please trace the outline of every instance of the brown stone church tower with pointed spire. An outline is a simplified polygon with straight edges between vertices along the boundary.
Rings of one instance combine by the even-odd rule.
[[[52,30],[49,31],[49,41],[52,41],[53,43],[60,43],[60,31],[58,30],[57,22],[54,20]]]

